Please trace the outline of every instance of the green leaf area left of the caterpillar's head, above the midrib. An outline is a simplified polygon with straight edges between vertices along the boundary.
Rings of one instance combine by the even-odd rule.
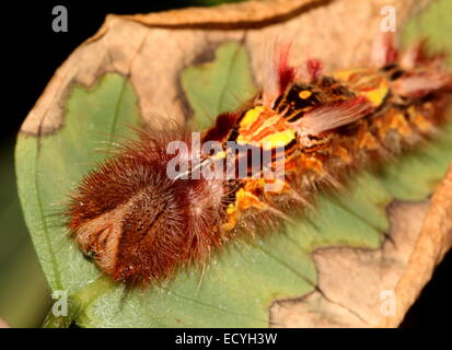
[[[104,159],[113,137],[131,136],[127,126],[139,124],[134,89],[123,77],[111,73],[92,89],[76,85],[71,90],[60,130],[44,137],[19,137],[19,194],[53,290],[72,294],[98,276],[72,243],[60,214],[71,189]]]

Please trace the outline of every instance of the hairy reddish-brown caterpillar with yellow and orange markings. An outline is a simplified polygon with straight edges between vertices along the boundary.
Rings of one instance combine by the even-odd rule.
[[[399,56],[393,37],[382,35],[370,68],[329,74],[315,59],[292,67],[289,55],[290,45],[279,44],[262,91],[200,133],[201,145],[217,145],[213,153],[196,147],[187,125],[144,129],[83,177],[65,215],[103,272],[146,287],[204,266],[228,241],[271,232],[313,207],[320,188],[339,188],[350,171],[391,161],[447,122],[452,75],[445,55],[428,55],[425,43]],[[242,176],[229,172],[240,162]],[[169,176],[171,164],[176,176]],[[218,176],[194,176],[200,168]]]

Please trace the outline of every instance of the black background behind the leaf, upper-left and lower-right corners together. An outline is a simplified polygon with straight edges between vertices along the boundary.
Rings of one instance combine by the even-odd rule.
[[[107,13],[134,14],[199,4],[196,1],[47,1],[37,4],[21,1],[2,7],[3,103],[0,126],[2,147],[11,147],[15,135],[42,94],[55,70],[84,39],[102,25]],[[68,32],[55,33],[51,10],[62,4],[68,9]],[[403,327],[445,326],[451,313],[452,272],[450,253],[438,267],[432,281],[408,312]],[[450,322],[449,322],[450,324]]]

